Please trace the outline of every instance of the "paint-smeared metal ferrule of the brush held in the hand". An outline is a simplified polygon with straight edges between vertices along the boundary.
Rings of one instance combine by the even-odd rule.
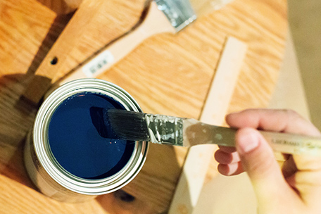
[[[145,119],[151,142],[183,146],[183,118],[146,114]]]

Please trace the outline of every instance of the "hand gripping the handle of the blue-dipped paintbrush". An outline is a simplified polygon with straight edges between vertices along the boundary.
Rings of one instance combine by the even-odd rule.
[[[285,155],[279,168],[258,130],[321,136],[294,111],[250,109],[227,115],[238,130],[236,148],[220,146],[215,159],[222,175],[247,172],[258,200],[258,213],[321,213],[321,158]]]

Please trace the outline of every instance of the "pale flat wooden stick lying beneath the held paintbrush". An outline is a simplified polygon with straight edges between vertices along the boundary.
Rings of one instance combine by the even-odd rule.
[[[237,84],[241,66],[244,63],[247,45],[228,37],[225,48],[210,86],[208,97],[201,113],[201,122],[222,125],[225,121],[229,103]],[[170,206],[170,214],[194,213],[199,195],[206,179],[213,154],[218,149],[215,145],[194,146],[189,149]]]

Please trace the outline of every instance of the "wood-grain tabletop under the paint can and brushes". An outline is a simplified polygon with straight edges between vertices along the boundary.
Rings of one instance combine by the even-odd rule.
[[[109,0],[68,55],[61,75],[139,20],[143,0]],[[151,145],[144,168],[117,194],[68,204],[40,194],[23,165],[25,135],[37,107],[21,98],[28,81],[72,15],[56,15],[36,0],[0,2],[1,213],[162,213],[168,209],[187,150]],[[199,118],[227,36],[248,44],[229,112],[265,107],[282,62],[285,0],[236,0],[176,35],[159,34],[99,78],[124,88],[149,113]],[[213,165],[215,161],[213,159]],[[215,177],[215,169],[210,177]],[[210,177],[208,179],[210,179]]]

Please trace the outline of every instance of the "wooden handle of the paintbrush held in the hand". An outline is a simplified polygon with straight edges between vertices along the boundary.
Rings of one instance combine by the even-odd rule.
[[[184,126],[184,144],[186,144],[186,146],[200,144],[235,146],[235,134],[237,130],[232,128],[208,125],[193,119],[185,120]],[[320,137],[310,137],[283,132],[259,132],[276,152],[321,156]]]

